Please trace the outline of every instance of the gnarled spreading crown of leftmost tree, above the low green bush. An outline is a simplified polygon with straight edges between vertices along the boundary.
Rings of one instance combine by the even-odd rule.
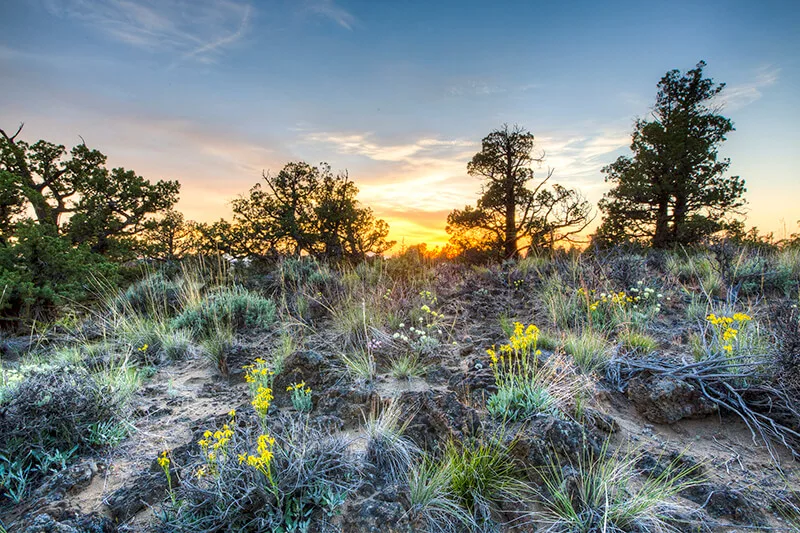
[[[177,181],[151,183],[131,170],[106,168],[106,156],[85,144],[69,153],[47,141],[29,144],[0,129],[0,173],[18,194],[0,198],[0,211],[30,207],[42,230],[93,252],[124,250],[148,216],[172,207]],[[9,202],[11,202],[9,204]],[[17,202],[17,203],[15,203]],[[13,215],[12,215],[13,217]],[[0,223],[11,217],[0,214]]]

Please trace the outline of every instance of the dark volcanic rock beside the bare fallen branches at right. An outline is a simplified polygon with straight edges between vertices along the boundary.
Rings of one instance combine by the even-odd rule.
[[[717,412],[717,406],[699,389],[672,376],[637,376],[628,384],[627,392],[636,410],[656,424],[672,424],[683,418],[702,418]]]

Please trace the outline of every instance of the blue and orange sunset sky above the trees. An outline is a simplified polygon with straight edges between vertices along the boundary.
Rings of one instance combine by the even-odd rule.
[[[404,245],[474,204],[480,140],[519,124],[596,202],[671,69],[705,60],[748,226],[800,220],[796,1],[0,0],[0,127],[181,182],[187,219],[289,161],[347,170]]]

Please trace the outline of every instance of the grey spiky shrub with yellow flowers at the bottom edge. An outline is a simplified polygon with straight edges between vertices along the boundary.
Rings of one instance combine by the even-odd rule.
[[[358,486],[350,443],[305,417],[283,416],[269,434],[241,424],[228,431],[213,469],[208,451],[219,440],[194,456],[161,513],[161,531],[318,531],[312,520],[338,512]]]

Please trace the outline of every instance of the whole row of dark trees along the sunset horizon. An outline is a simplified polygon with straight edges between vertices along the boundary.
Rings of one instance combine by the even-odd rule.
[[[611,189],[598,207],[594,235],[585,230],[594,206],[580,191],[540,178],[544,160],[534,136],[503,125],[487,135],[467,172],[482,180],[474,206],[447,217],[450,259],[513,259],[531,250],[577,243],[669,248],[728,237],[766,243],[744,231],[744,180],[726,176],[718,147],[733,131],[715,106],[724,84],[703,76],[704,62],[668,72],[658,84],[650,120],[636,121],[631,155],[602,169]],[[0,129],[0,316],[20,317],[63,300],[80,300],[92,275],[115,282],[132,260],[176,261],[227,254],[270,260],[310,255],[359,261],[394,245],[388,224],[356,199],[347,172],[305,162],[264,173],[233,200],[233,217],[207,224],[174,209],[180,184],[155,183],[85,144],[67,151],[44,140],[22,140]],[[800,240],[793,236],[794,242]],[[423,249],[424,247],[418,248]]]

